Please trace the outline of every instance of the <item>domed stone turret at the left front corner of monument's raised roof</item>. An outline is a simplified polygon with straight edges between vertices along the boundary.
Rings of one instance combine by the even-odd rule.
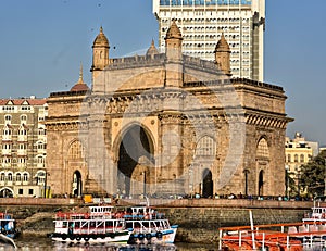
[[[96,37],[92,43],[92,65],[90,68],[90,72],[92,72],[92,78],[97,77],[99,72],[109,64],[109,40],[101,27],[100,34]]]

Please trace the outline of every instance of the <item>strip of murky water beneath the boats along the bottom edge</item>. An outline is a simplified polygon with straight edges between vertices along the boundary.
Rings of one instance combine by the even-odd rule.
[[[25,237],[15,240],[17,250],[22,251],[215,251],[217,250],[217,244],[195,244],[177,242],[175,244],[166,246],[113,246],[113,244],[100,244],[100,246],[87,246],[87,244],[63,244],[59,242],[53,242],[49,238],[35,238]],[[11,247],[0,247],[0,251],[11,251],[14,250]]]

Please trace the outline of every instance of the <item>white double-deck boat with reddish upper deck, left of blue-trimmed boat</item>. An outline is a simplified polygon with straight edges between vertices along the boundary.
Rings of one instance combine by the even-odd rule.
[[[127,243],[131,229],[124,218],[116,218],[113,206],[89,206],[87,213],[58,212],[51,239],[73,243]]]

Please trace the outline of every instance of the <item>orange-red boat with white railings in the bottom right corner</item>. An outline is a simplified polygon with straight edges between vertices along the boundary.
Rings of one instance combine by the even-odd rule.
[[[321,208],[319,208],[321,209]],[[317,212],[319,212],[319,209]],[[315,212],[316,208],[313,208]],[[221,227],[220,250],[291,250],[326,249],[325,221],[305,215],[302,222],[266,225]],[[312,218],[314,221],[312,221]]]

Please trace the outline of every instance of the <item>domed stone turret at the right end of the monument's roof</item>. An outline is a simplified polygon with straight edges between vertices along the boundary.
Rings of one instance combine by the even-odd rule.
[[[215,63],[218,66],[218,70],[221,70],[224,74],[231,76],[230,73],[230,49],[229,46],[224,37],[224,34],[222,34],[220,41],[216,45],[215,48]]]

